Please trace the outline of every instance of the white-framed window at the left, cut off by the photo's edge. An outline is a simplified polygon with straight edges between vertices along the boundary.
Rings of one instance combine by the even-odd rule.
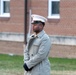
[[[0,17],[10,17],[10,0],[0,0]]]

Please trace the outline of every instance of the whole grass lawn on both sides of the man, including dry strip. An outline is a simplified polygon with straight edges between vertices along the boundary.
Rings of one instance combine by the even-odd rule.
[[[51,75],[76,75],[76,59],[49,58]],[[23,56],[0,54],[0,75],[23,75]]]

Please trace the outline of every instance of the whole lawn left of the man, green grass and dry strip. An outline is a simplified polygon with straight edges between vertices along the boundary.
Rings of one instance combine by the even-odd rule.
[[[0,54],[0,75],[23,75],[23,56]]]

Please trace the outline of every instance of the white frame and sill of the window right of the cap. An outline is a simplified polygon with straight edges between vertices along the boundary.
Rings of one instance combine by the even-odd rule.
[[[60,19],[60,14],[52,15],[52,1],[60,1],[60,0],[49,0],[48,1],[48,18],[49,19]],[[51,13],[51,14],[50,14]]]

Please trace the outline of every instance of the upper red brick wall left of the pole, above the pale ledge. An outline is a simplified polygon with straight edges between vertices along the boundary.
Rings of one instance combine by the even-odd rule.
[[[10,17],[0,17],[0,32],[23,32],[24,0],[10,0]]]

